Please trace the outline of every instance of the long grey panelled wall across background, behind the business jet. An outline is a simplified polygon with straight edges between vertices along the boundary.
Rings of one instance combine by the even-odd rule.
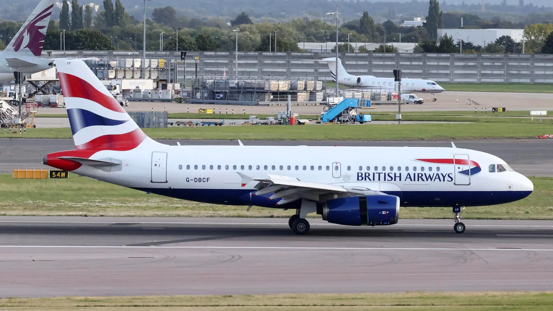
[[[118,79],[128,79],[128,74],[137,79],[136,70],[141,66],[140,51],[44,51],[44,56],[96,57],[100,61],[115,64],[110,69],[98,66],[97,75],[113,79],[113,70]],[[46,55],[48,54],[48,55]],[[149,76],[183,83],[196,74],[203,79],[227,77],[265,77],[268,79],[332,80],[326,63],[320,61],[335,57],[326,52],[238,52],[190,51],[185,61],[180,62],[180,51],[147,51],[150,61]],[[438,82],[553,82],[553,55],[551,54],[436,54],[436,53],[340,53],[343,66],[352,75],[393,77],[393,70],[400,68],[404,77],[430,79]],[[198,57],[199,60],[195,60]],[[130,61],[129,59],[132,59]],[[163,59],[163,68],[159,60]],[[123,64],[126,64],[122,66]],[[127,64],[132,64],[131,68]],[[137,68],[138,67],[138,68]],[[134,70],[133,70],[134,69]],[[117,79],[117,78],[116,78]],[[152,78],[154,79],[154,78]]]

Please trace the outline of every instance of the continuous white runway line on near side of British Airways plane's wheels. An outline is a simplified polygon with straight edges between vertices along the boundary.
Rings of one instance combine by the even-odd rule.
[[[553,248],[415,248],[415,247],[291,247],[291,246],[86,246],[86,245],[0,245],[0,248],[208,248],[234,250],[359,250],[359,251],[544,251]]]

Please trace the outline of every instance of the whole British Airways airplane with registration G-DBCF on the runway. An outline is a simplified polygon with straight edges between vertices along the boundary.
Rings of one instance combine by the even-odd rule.
[[[465,206],[503,204],[534,185],[504,160],[430,147],[169,146],[150,139],[81,60],[56,60],[75,150],[43,163],[183,200],[292,209],[333,224],[393,225],[400,206],[448,206],[462,233]]]

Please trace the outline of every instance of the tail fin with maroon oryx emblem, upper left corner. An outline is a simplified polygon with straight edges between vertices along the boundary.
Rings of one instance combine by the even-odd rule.
[[[4,51],[40,56],[55,0],[42,0]]]

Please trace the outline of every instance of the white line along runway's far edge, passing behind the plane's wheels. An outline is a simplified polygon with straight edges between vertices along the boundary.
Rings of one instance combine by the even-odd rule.
[[[0,221],[0,224],[117,224],[121,221]],[[133,224],[166,224],[166,225],[278,225],[288,226],[288,224],[280,222],[133,222]],[[339,226],[336,224],[311,224],[311,226]],[[451,227],[451,225],[409,225],[409,224],[395,224],[394,227],[399,226],[415,226],[415,227]],[[466,225],[467,227],[548,227],[553,228],[553,225]]]

